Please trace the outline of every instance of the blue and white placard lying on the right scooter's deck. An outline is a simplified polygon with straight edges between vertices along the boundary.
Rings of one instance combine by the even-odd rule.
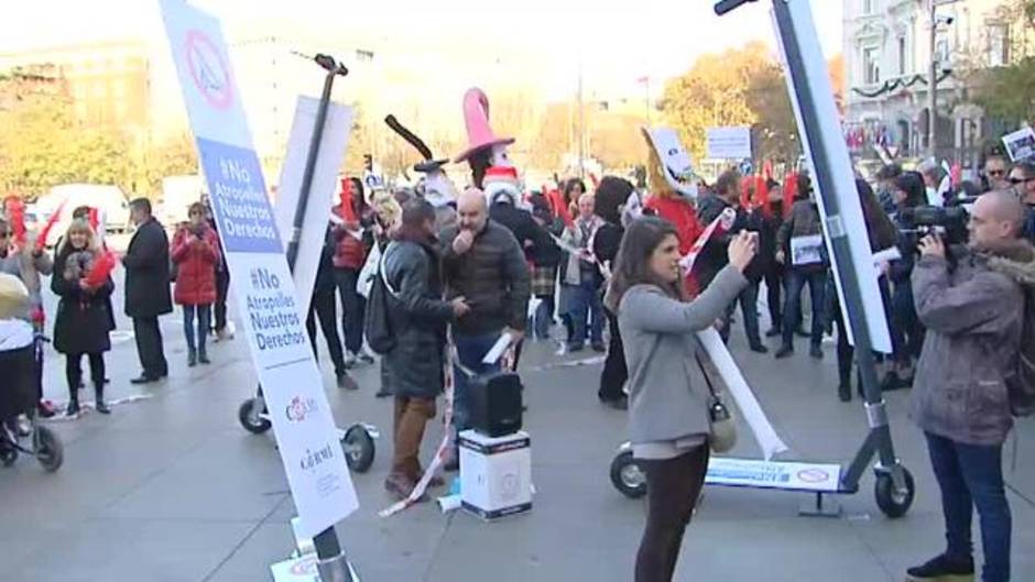
[[[835,493],[840,488],[841,465],[791,463],[712,457],[705,483],[734,487]]]

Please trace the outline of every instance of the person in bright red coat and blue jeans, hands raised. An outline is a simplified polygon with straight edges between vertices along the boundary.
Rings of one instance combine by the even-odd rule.
[[[176,268],[173,298],[183,306],[183,331],[187,338],[187,365],[210,363],[205,339],[216,303],[216,263],[219,237],[205,219],[205,205],[195,202],[187,211],[189,222],[181,226],[173,239],[172,261]],[[197,315],[197,333],[194,320]]]

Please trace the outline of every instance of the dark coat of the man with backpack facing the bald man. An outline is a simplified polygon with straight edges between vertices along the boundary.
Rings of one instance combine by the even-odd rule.
[[[446,325],[453,306],[443,300],[437,251],[414,242],[385,250],[384,276],[397,294],[389,311],[395,347],[381,359],[381,382],[395,396],[434,398],[444,384]]]

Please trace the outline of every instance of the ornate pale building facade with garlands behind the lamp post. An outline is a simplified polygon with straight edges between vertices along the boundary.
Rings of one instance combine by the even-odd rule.
[[[931,22],[930,2],[936,1]],[[1002,0],[843,0],[845,131],[854,155],[928,155],[929,65],[935,75],[939,160],[973,167],[1002,133],[970,99],[966,72],[1011,58]],[[930,28],[936,26],[934,43]]]

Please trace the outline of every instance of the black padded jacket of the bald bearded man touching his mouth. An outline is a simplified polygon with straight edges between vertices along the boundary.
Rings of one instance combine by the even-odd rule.
[[[532,278],[518,239],[489,220],[462,255],[453,251],[457,228],[443,234],[443,267],[447,295],[465,297],[471,311],[457,323],[465,334],[493,333],[503,328],[525,329]]]

